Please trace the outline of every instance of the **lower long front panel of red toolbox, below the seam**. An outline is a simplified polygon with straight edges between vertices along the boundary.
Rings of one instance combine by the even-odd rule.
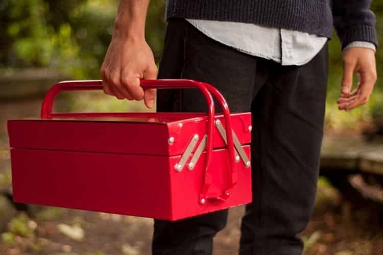
[[[12,149],[14,200],[171,219],[169,158]]]

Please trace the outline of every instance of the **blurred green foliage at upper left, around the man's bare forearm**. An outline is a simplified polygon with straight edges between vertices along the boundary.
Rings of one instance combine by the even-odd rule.
[[[3,0],[0,67],[51,67],[95,79],[105,56],[117,0]],[[152,1],[147,38],[161,55],[164,1]]]

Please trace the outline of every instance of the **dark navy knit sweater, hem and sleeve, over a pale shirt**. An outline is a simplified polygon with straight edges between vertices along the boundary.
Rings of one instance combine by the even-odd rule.
[[[343,47],[352,41],[368,41],[377,46],[371,0],[329,1],[169,0],[166,16],[269,25],[328,38],[334,24]]]

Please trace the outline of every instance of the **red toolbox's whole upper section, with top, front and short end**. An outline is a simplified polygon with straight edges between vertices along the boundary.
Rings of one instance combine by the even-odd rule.
[[[240,143],[250,143],[251,114],[230,118]],[[215,119],[224,123],[222,115]],[[195,135],[202,140],[206,127],[206,113],[61,113],[8,121],[12,148],[158,156],[182,155]],[[225,146],[214,129],[213,147]]]

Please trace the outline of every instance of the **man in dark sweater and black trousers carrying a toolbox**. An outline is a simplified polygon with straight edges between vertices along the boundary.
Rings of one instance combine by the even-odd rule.
[[[327,39],[342,41],[340,110],[368,101],[376,81],[371,0],[169,0],[160,79],[216,86],[233,112],[251,111],[253,202],[242,219],[240,254],[297,255],[314,205],[323,136]],[[145,41],[149,0],[121,0],[102,67],[104,91],[154,106],[156,79]],[[352,91],[353,73],[358,86]],[[331,85],[336,86],[336,85]],[[195,90],[159,91],[159,111],[205,111]],[[227,211],[155,221],[153,254],[212,254]]]

